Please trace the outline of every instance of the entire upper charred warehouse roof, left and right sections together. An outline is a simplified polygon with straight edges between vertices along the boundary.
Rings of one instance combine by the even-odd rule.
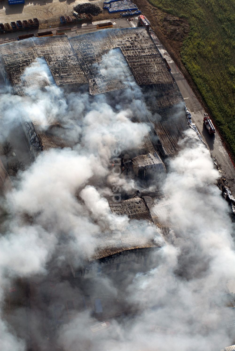
[[[26,67],[36,58],[44,57],[58,86],[76,91],[87,85],[90,94],[105,93],[125,87],[120,79],[102,70],[104,54],[115,48],[121,50],[133,77],[142,87],[146,105],[152,112],[148,118],[158,136],[160,154],[177,154],[178,140],[187,127],[183,98],[143,27],[106,29],[70,39],[65,36],[30,38],[1,45],[0,71],[7,84],[22,95],[31,83],[21,79]]]

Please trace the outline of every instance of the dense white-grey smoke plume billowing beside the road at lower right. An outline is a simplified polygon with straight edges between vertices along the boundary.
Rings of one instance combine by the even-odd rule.
[[[174,246],[155,252],[151,271],[123,284],[139,314],[113,322],[108,335],[94,340],[83,326],[75,332],[84,318],[78,315],[60,331],[65,350],[77,350],[80,339],[87,350],[123,351],[167,351],[172,345],[174,350],[220,350],[233,342],[226,321],[234,313],[223,300],[223,284],[233,277],[235,263],[228,206],[215,185],[218,173],[209,151],[191,131],[182,146],[165,184],[171,212],[162,213],[178,238]],[[157,206],[161,211],[161,203]]]

